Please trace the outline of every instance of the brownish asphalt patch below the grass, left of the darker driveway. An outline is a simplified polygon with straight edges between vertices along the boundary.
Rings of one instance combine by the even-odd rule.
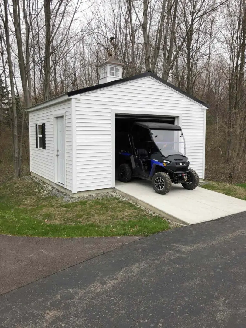
[[[0,294],[139,238],[141,237],[38,238],[0,235]]]

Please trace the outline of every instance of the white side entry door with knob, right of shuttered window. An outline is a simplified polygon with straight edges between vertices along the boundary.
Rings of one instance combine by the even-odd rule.
[[[57,117],[57,181],[65,184],[65,129],[64,117]]]

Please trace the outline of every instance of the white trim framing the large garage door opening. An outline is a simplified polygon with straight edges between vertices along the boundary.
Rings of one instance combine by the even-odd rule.
[[[115,114],[158,115],[174,117],[174,123],[182,127],[182,113],[154,111],[148,113],[143,110],[111,109],[111,187],[115,187]]]

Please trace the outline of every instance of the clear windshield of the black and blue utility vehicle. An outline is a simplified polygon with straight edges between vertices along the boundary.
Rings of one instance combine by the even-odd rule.
[[[180,130],[151,130],[152,138],[164,157],[185,155],[185,140]]]

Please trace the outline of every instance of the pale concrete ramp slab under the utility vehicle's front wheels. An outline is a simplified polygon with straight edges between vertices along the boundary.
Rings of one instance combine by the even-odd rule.
[[[186,190],[172,184],[170,192],[159,195],[150,181],[115,181],[115,192],[136,204],[174,222],[189,225],[215,220],[226,215],[246,211],[246,201],[197,187]]]

